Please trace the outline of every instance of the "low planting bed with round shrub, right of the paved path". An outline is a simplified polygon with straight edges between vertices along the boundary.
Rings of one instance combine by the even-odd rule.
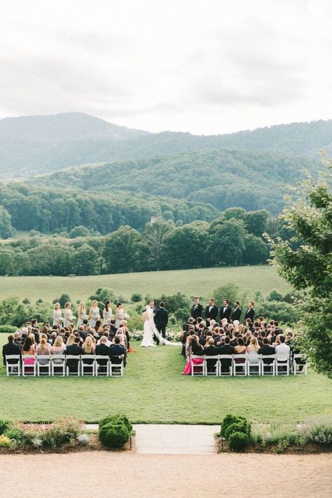
[[[244,417],[226,415],[221,423],[219,443],[242,451],[284,453],[288,451],[332,450],[332,413],[310,417],[301,424],[251,424]]]

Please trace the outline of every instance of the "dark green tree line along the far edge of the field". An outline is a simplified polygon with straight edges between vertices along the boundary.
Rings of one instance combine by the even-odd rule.
[[[265,231],[275,233],[267,211],[227,209],[212,223],[174,221],[146,223],[139,231],[121,226],[109,235],[86,235],[76,227],[75,238],[31,237],[0,246],[0,275],[99,275],[265,264]],[[77,237],[77,235],[83,235]]]

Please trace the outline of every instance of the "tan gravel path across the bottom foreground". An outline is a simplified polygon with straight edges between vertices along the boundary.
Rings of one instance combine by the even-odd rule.
[[[332,455],[0,455],[1,498],[327,498]]]

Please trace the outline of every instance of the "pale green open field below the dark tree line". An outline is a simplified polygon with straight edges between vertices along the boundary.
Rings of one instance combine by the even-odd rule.
[[[90,277],[0,277],[0,298],[18,296],[31,302],[42,298],[52,301],[62,293],[71,300],[87,299],[99,287],[109,287],[116,296],[130,300],[133,293],[159,297],[162,293],[177,292],[186,296],[205,296],[216,287],[235,282],[249,298],[256,291],[267,296],[272,289],[284,294],[289,286],[271,266],[240,266],[236,268],[202,268],[198,270],[170,270],[162,272],[93,275]]]

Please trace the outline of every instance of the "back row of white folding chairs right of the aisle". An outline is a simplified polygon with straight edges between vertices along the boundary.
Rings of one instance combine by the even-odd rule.
[[[280,361],[276,354],[258,354],[255,361],[248,354],[218,354],[216,356],[191,356],[192,359],[202,359],[202,363],[191,361],[191,375],[307,375],[307,357],[305,354],[294,354],[293,359]],[[216,361],[213,368],[207,368],[207,361]],[[222,361],[230,363],[226,370],[222,368]],[[266,362],[265,360],[268,360]],[[298,360],[298,361],[296,361]],[[227,363],[227,364],[228,364]]]

